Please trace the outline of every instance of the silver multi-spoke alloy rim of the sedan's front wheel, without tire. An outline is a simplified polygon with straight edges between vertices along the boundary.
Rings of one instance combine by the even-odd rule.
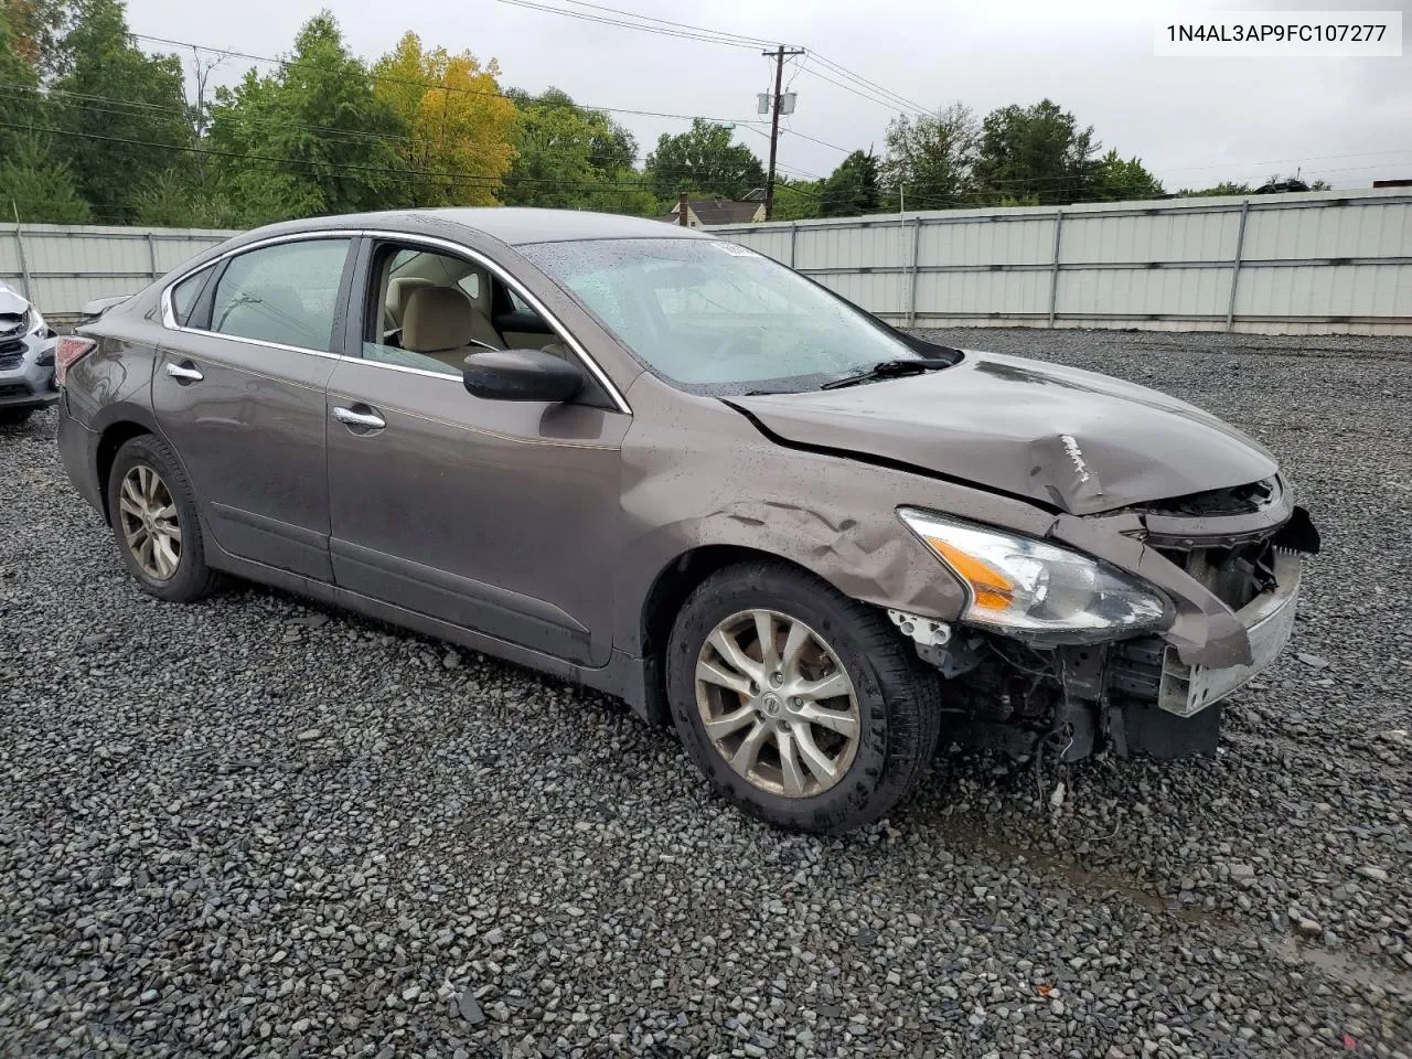
[[[784,798],[827,791],[858,750],[858,696],[843,662],[775,610],[744,610],[712,630],[696,659],[696,707],[730,767]]]

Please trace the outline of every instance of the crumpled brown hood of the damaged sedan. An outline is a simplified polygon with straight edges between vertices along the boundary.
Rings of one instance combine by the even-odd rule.
[[[923,467],[1083,515],[1260,481],[1258,442],[1141,385],[967,350],[925,376],[730,398],[799,445]]]

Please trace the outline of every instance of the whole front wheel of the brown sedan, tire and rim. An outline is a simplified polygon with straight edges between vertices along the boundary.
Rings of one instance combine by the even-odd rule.
[[[874,609],[777,562],[729,566],[668,642],[672,720],[717,792],[779,827],[887,815],[936,748],[940,692]]]

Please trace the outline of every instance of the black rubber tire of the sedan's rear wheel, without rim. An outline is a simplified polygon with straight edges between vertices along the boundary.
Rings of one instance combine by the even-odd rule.
[[[181,527],[181,554],[175,572],[164,579],[143,569],[143,563],[127,542],[123,531],[120,508],[123,480],[138,466],[157,472],[176,508],[176,524]],[[206,552],[201,537],[201,518],[196,515],[196,497],[182,472],[176,455],[161,438],[143,433],[127,441],[113,457],[113,469],[107,476],[107,510],[113,524],[113,537],[123,565],[137,579],[144,592],[169,603],[193,603],[209,594],[217,582],[217,575],[206,566]]]

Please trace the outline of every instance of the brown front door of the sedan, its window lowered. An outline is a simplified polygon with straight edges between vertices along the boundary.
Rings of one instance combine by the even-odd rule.
[[[459,366],[480,349],[473,336],[489,337],[489,313],[476,318],[450,292],[469,263],[429,249],[425,260],[409,258],[407,250],[384,244],[369,256],[363,356],[339,361],[328,384],[335,579],[498,640],[603,665],[611,650],[604,558],[630,417],[592,395],[569,404],[472,397]],[[448,291],[404,284],[421,292],[398,306],[400,332],[387,333],[380,322],[394,261],[400,275],[436,278]]]

